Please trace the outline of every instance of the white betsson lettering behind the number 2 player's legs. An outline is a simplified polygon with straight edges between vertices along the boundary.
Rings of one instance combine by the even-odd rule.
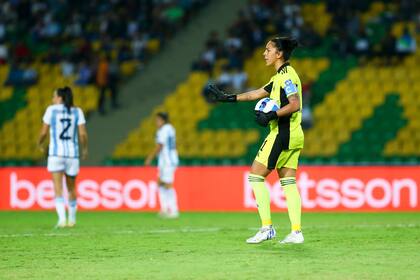
[[[155,208],[157,184],[148,184],[141,180],[129,180],[125,184],[117,180],[105,180],[98,183],[94,180],[81,180],[77,184],[77,203],[84,209],[141,209]],[[38,185],[17,174],[10,174],[10,206],[17,209],[28,209],[35,205],[50,209],[54,207],[54,188],[51,180],[42,180]]]

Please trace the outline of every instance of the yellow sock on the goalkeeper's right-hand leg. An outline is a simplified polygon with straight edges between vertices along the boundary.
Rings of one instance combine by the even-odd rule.
[[[296,186],[295,177],[285,177],[280,179],[280,184],[283,187],[284,195],[287,200],[287,210],[289,212],[289,219],[292,225],[292,231],[301,230],[301,201],[300,194]]]

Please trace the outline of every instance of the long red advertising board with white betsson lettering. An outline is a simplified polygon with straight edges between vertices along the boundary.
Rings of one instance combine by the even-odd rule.
[[[181,211],[252,211],[248,167],[180,167]],[[420,166],[303,166],[297,176],[304,211],[420,211]],[[273,211],[286,202],[276,174],[267,180]],[[80,210],[156,211],[156,169],[85,167],[77,178]],[[45,168],[0,168],[0,210],[54,207]]]

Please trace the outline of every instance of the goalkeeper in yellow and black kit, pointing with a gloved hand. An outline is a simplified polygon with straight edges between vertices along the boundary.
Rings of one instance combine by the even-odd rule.
[[[264,59],[267,66],[274,66],[276,74],[262,88],[238,95],[227,94],[214,85],[209,85],[207,93],[215,101],[253,101],[270,97],[280,108],[268,113],[256,112],[256,121],[261,126],[270,125],[270,133],[265,138],[251,166],[248,177],[252,186],[262,227],[247,243],[261,243],[276,236],[271,221],[270,193],[264,180],[273,169],[277,170],[281,186],[287,200],[291,223],[291,233],[280,243],[303,243],[301,231],[301,200],[296,186],[296,169],[304,136],[300,125],[302,118],[302,86],[295,69],[288,60],[297,47],[297,41],[288,37],[276,37],[268,41]]]

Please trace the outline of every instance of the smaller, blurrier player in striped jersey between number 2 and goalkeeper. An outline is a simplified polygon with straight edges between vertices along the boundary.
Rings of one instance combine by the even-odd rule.
[[[165,218],[177,218],[178,202],[173,187],[174,175],[178,166],[178,152],[176,150],[175,128],[169,123],[167,113],[159,112],[156,115],[156,147],[146,158],[145,165],[150,165],[152,160],[158,156],[159,170],[159,203],[160,216]]]

